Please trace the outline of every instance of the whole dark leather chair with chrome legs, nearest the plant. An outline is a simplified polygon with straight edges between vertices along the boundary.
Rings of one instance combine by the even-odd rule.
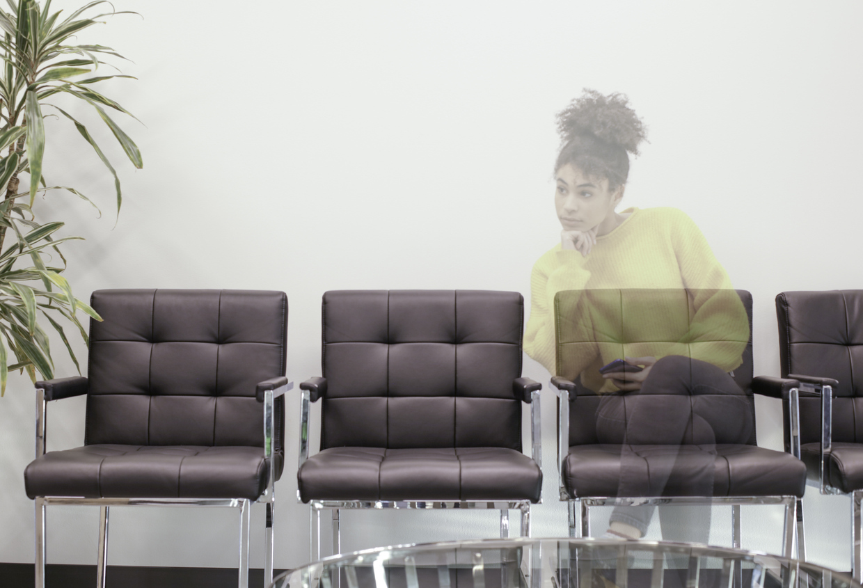
[[[249,581],[250,503],[266,503],[273,575],[274,482],[284,452],[287,296],[241,290],[99,290],[88,377],[36,383],[36,587],[45,585],[45,508],[98,505],[98,585],[111,506],[240,510],[239,586]],[[87,395],[85,445],[45,453],[48,401]]]

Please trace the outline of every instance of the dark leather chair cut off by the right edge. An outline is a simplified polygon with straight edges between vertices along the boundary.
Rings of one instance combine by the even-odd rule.
[[[776,297],[782,375],[800,382],[800,437],[809,484],[851,496],[854,579],[861,566],[863,290]],[[786,427],[786,438],[790,436]]]

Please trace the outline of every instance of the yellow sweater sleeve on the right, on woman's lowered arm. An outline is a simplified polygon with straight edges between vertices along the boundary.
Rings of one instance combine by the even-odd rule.
[[[677,211],[676,224],[672,242],[694,310],[684,343],[694,359],[734,370],[749,341],[746,308],[702,231],[683,212]]]

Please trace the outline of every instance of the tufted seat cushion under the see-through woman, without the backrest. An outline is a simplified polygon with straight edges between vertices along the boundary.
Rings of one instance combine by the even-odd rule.
[[[803,496],[806,466],[751,445],[581,445],[564,461],[564,485],[570,496]]]

